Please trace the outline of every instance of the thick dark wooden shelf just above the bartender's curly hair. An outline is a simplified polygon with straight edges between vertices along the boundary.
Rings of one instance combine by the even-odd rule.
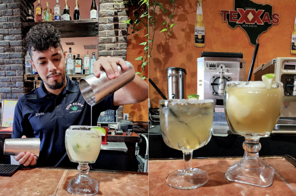
[[[98,19],[22,23],[22,27],[27,33],[32,26],[43,23],[55,26],[61,32],[61,38],[95,37],[99,35]]]

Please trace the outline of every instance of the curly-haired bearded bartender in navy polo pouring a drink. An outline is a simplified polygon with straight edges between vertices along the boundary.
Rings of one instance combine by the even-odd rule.
[[[12,138],[40,138],[40,154],[22,152],[15,160],[24,166],[77,166],[70,162],[65,149],[65,131],[71,125],[91,125],[91,106],[86,103],[77,81],[65,75],[66,54],[62,49],[59,31],[50,24],[33,26],[25,37],[33,69],[42,79],[39,88],[22,96],[15,107]],[[94,64],[99,78],[104,70],[109,79],[119,77],[117,65],[127,69],[122,58],[100,57]],[[148,85],[139,76],[93,106],[92,125],[102,111],[118,109],[124,104],[140,103],[148,98]],[[78,103],[75,112],[67,109]]]

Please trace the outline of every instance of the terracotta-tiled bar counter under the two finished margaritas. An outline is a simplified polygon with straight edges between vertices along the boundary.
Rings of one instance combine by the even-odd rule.
[[[192,167],[205,170],[210,179],[202,187],[192,190],[179,190],[166,184],[166,177],[171,172],[182,169],[184,162],[181,159],[174,160],[150,160],[149,159],[149,196],[295,196],[296,195],[296,162],[290,156],[261,157],[261,159],[275,169],[274,182],[269,187],[256,187],[229,181],[225,178],[226,170],[241,157],[217,157],[200,158],[192,160]]]

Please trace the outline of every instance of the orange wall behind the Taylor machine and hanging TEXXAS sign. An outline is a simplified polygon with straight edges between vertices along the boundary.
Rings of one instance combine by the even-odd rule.
[[[164,9],[172,13],[170,1],[158,0]],[[273,25],[268,31],[259,36],[259,51],[254,69],[276,57],[296,57],[290,54],[291,34],[295,20],[295,1],[290,0],[254,0],[260,4],[270,4],[273,12],[279,13],[279,24]],[[246,79],[255,46],[242,28],[232,29],[223,22],[220,10],[233,10],[234,0],[202,0],[203,21],[205,23],[205,47],[194,47],[194,24],[196,22],[197,0],[176,1],[174,14],[173,35],[159,33],[164,27],[160,26],[168,15],[157,6],[156,32],[152,49],[152,59],[149,64],[149,78],[167,96],[167,67],[181,67],[187,71],[186,93],[197,93],[197,58],[202,51],[209,52],[242,52],[246,59]],[[151,12],[151,8],[150,8]],[[258,62],[258,63],[257,63]],[[252,76],[254,80],[254,76]],[[152,107],[158,107],[161,99],[156,90],[149,84],[149,98]]]

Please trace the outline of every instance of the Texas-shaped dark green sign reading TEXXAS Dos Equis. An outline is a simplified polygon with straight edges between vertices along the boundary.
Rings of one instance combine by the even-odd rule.
[[[231,28],[240,26],[246,31],[253,45],[256,45],[259,35],[279,24],[279,14],[272,13],[271,5],[250,0],[234,0],[234,10],[220,10],[220,13]]]

